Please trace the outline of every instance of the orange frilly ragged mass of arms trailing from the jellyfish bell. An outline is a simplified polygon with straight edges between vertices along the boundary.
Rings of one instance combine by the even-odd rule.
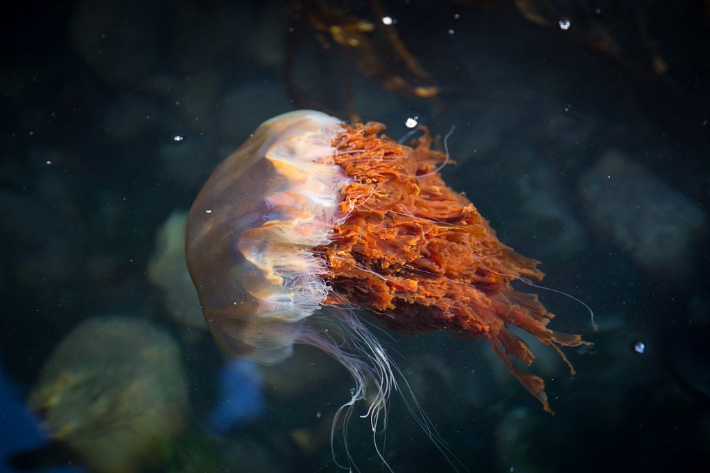
[[[352,182],[342,189],[346,215],[332,241],[317,248],[324,279],[339,298],[380,314],[389,328],[449,330],[486,338],[510,372],[550,411],[540,377],[519,369],[535,356],[508,330],[515,325],[553,347],[577,346],[579,335],[547,328],[553,315],[514,279],[542,279],[538,262],[496,238],[466,196],[437,172],[445,156],[429,133],[414,148],[380,135],[380,123],[343,125],[334,162]],[[551,412],[551,411],[550,411]]]

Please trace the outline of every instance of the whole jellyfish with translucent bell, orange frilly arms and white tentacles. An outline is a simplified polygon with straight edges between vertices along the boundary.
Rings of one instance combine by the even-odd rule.
[[[552,313],[513,288],[542,278],[538,262],[503,245],[466,196],[444,184],[448,154],[432,150],[430,133],[408,146],[384,128],[284,113],[214,170],[190,209],[185,243],[214,339],[262,363],[299,343],[327,352],[356,383],[336,419],[364,399],[371,380],[366,416],[376,432],[400,373],[368,312],[404,333],[485,338],[552,412],[542,379],[513,362],[535,357],[510,328],[552,347],[572,373],[560,347],[586,342],[547,328]]]

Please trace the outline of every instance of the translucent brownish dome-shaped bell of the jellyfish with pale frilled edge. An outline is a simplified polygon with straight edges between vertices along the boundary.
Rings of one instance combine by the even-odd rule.
[[[187,221],[186,258],[214,338],[260,362],[283,360],[327,296],[329,243],[350,179],[330,142],[336,118],[295,111],[263,123],[212,173]]]

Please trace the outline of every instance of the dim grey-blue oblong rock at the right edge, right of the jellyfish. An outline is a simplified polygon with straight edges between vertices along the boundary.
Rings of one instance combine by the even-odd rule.
[[[691,269],[707,218],[685,194],[618,152],[603,155],[577,189],[593,228],[638,265],[674,278]]]

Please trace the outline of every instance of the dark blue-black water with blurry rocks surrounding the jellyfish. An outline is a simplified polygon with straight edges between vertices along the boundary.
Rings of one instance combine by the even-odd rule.
[[[2,20],[1,471],[339,471],[344,369],[304,347],[230,362],[180,255],[156,250],[214,166],[294,108],[394,138],[408,118],[455,126],[447,183],[594,309],[596,331],[538,291],[552,328],[594,343],[566,350],[574,377],[532,345],[555,416],[481,340],[382,335],[459,471],[710,460],[706,2],[60,3]],[[424,74],[386,31],[346,48],[324,27],[383,16]],[[354,464],[386,471],[368,426],[351,421]],[[397,395],[383,451],[454,471]]]

